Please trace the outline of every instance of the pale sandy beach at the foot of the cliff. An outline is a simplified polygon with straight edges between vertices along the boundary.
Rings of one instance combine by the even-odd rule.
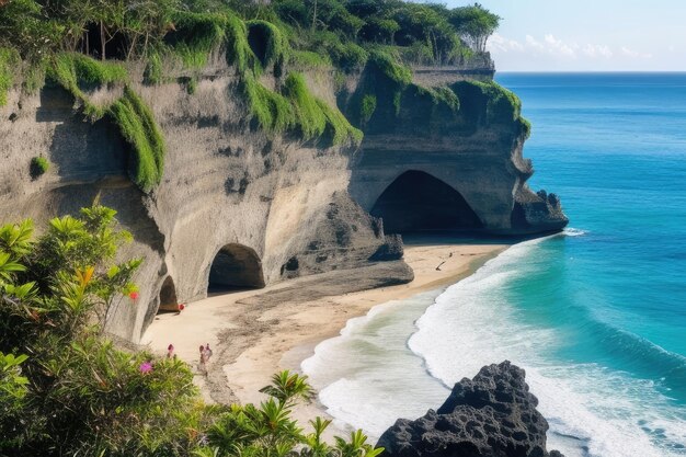
[[[214,295],[187,305],[181,313],[159,315],[141,343],[159,354],[165,354],[168,345],[173,344],[175,354],[197,372],[195,380],[207,401],[259,402],[263,399],[259,389],[268,384],[274,373],[298,372],[315,346],[338,335],[348,319],[389,300],[455,284],[506,248],[459,244],[445,238],[410,240],[404,261],[414,271],[414,281],[409,284],[331,296],[324,292],[324,296],[315,295],[315,299],[297,294],[313,282],[325,282],[329,276],[324,274],[259,290]],[[364,272],[347,272],[351,281],[354,274]],[[199,345],[206,343],[214,354],[205,376],[197,367]],[[295,412],[299,419],[323,414],[317,401]]]

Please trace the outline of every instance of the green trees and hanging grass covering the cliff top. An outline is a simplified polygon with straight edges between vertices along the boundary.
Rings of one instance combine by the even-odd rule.
[[[117,123],[134,149],[132,178],[149,192],[161,180],[164,149],[150,110],[134,85],[112,105],[96,105],[89,98],[92,89],[135,82],[128,80],[125,61],[146,62],[148,84],[170,82],[165,62],[176,61],[184,69],[178,80],[193,94],[210,58],[222,58],[236,69],[239,92],[261,128],[320,146],[357,144],[359,130],[338,106],[316,99],[291,68],[366,67],[392,87],[398,114],[412,81],[407,65],[460,64],[483,52],[499,21],[479,4],[448,9],[401,0],[11,0],[0,5],[0,105],[20,79],[25,90],[35,92],[47,72],[73,94],[88,117],[110,114]],[[23,76],[10,70],[18,56],[26,62]],[[264,87],[264,71],[277,78],[283,73],[283,82],[275,90]],[[415,96],[459,107],[450,91],[415,89]],[[484,91],[501,98],[498,90]],[[359,96],[361,126],[381,102],[370,88]]]

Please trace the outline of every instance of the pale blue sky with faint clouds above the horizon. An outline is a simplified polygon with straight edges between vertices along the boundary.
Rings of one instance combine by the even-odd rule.
[[[503,18],[489,41],[499,71],[686,71],[686,0],[480,3]]]

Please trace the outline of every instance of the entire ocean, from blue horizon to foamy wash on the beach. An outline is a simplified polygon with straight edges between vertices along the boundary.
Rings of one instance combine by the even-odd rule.
[[[378,437],[479,368],[524,367],[568,457],[686,456],[686,75],[501,73],[535,191],[564,233],[353,319],[304,362],[339,424]]]

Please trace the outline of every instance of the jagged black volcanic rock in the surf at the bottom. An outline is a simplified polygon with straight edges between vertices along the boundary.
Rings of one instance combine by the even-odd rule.
[[[546,450],[548,422],[522,368],[503,362],[462,379],[438,408],[399,419],[377,446],[397,457],[562,457]]]

